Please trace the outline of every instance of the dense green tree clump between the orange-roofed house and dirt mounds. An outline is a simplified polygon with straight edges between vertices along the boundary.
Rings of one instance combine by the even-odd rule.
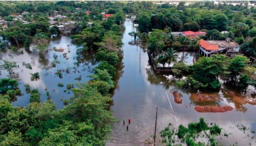
[[[219,79],[223,79],[226,85],[245,90],[249,84],[255,85],[256,69],[249,67],[248,63],[249,59],[241,55],[236,55],[233,59],[224,55],[201,57],[193,65],[188,67],[183,65],[187,68],[182,70],[183,73],[189,76],[178,81],[177,84],[187,89],[219,89],[221,87]],[[174,69],[177,69],[177,66],[174,66]]]

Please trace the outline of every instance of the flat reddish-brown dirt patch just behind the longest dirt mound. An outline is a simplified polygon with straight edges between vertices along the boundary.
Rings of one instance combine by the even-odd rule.
[[[219,96],[216,94],[200,94],[200,93],[192,93],[191,99],[194,102],[200,102],[200,101],[217,101],[219,100]]]

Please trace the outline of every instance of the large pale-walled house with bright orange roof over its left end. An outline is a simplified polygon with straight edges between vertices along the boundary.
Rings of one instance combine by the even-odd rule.
[[[227,56],[235,56],[239,54],[240,46],[231,42],[230,38],[227,38],[226,41],[205,41],[200,39],[199,43],[199,53],[202,56],[210,57],[213,54],[225,54]]]

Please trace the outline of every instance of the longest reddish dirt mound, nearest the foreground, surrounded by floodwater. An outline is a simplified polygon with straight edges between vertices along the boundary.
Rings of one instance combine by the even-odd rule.
[[[195,110],[200,113],[224,113],[233,110],[230,106],[197,106]]]

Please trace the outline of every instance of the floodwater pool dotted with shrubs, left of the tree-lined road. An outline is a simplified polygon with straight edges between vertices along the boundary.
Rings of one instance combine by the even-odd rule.
[[[40,54],[33,47],[27,51],[23,46],[16,46],[19,49],[1,50],[1,60],[16,61],[19,68],[14,70],[15,73],[19,73],[19,88],[23,95],[12,99],[12,105],[26,106],[29,103],[30,94],[25,92],[24,85],[28,83],[31,89],[38,89],[41,93],[41,101],[47,100],[46,91],[50,92],[50,98],[56,103],[58,108],[64,108],[63,100],[69,99],[73,96],[73,92],[67,90],[67,84],[83,83],[90,80],[89,74],[93,74],[92,69],[97,65],[94,59],[94,52],[84,52],[83,54],[76,54],[76,45],[72,43],[72,39],[69,36],[54,37],[49,40],[49,48],[56,47],[64,48],[64,52],[56,52],[53,49],[48,51],[44,56]],[[17,55],[17,52],[23,50],[24,54]],[[60,63],[56,64],[55,68],[51,67],[51,62],[54,61],[53,55],[56,54]],[[63,55],[64,54],[64,55]],[[66,55],[65,55],[66,54]],[[25,68],[22,62],[30,63],[32,69]],[[1,61],[1,64],[3,62]],[[79,65],[74,65],[78,63]],[[58,70],[61,70],[62,78],[57,74]],[[40,79],[38,81],[31,81],[30,73],[39,72]],[[1,78],[6,78],[8,73],[2,71]],[[63,83],[64,87],[58,87],[58,83]]]

